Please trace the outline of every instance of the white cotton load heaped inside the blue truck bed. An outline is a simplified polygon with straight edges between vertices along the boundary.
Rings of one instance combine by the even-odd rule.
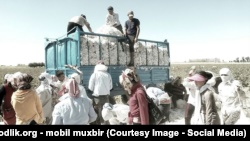
[[[102,26],[96,33],[122,36],[114,27]],[[130,62],[129,46],[121,44],[116,38],[103,36],[81,36],[81,65],[95,65],[98,60],[103,60],[107,65],[126,65]],[[135,48],[135,65],[168,65],[169,55],[166,46],[156,43],[137,42]],[[100,58],[101,56],[101,58]]]

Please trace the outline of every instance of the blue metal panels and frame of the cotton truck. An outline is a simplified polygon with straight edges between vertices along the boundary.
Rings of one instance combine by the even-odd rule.
[[[65,68],[64,65],[70,64],[77,66],[82,72],[82,85],[87,89],[88,82],[90,79],[91,74],[94,71],[94,65],[81,65],[80,63],[80,49],[81,49],[81,40],[80,37],[83,35],[95,35],[95,36],[107,36],[107,37],[114,37],[114,38],[121,38],[112,35],[103,35],[103,34],[95,34],[95,33],[83,33],[76,30],[75,33],[70,34],[68,37],[62,39],[56,39],[54,41],[47,42],[45,46],[45,68],[46,72],[50,74],[55,74],[56,70],[63,70],[66,76],[74,73],[74,70],[69,68]],[[168,56],[169,54],[169,44],[167,41],[165,42],[157,42],[157,41],[150,41],[150,40],[142,40],[139,39],[141,42],[151,42],[155,44],[164,44],[168,49]],[[100,53],[101,55],[101,53]],[[101,58],[101,56],[100,56]],[[108,72],[112,76],[113,80],[113,87],[114,90],[111,92],[111,95],[119,95],[124,94],[122,87],[119,84],[119,75],[121,74],[122,70],[126,67],[123,65],[109,65]],[[169,80],[169,67],[168,65],[144,65],[144,66],[137,66],[136,71],[139,74],[141,82],[146,84],[158,84],[158,83],[165,83]]]

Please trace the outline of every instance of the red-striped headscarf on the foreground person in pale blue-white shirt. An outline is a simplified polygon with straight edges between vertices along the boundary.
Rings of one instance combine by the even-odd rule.
[[[76,82],[75,79],[69,79],[68,82],[65,85],[66,89],[68,90],[68,94],[71,97],[79,97],[80,95],[80,90],[78,87],[78,83]]]

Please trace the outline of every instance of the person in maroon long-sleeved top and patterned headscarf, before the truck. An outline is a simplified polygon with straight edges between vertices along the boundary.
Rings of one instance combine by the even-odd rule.
[[[129,124],[149,125],[148,101],[144,87],[134,70],[127,68],[119,76],[119,82],[129,94]]]

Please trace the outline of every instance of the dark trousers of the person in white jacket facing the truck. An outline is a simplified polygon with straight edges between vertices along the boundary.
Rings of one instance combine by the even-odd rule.
[[[108,124],[109,122],[108,121],[104,121],[103,118],[102,118],[102,109],[103,109],[103,105],[105,103],[109,103],[109,95],[101,95],[99,97],[94,97],[94,102],[97,106],[97,110],[98,110],[98,117],[97,117],[97,120],[98,123],[100,124]]]

